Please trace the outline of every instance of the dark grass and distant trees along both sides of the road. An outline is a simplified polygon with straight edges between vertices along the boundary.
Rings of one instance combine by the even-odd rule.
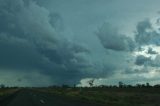
[[[25,89],[60,96],[70,101],[86,102],[94,106],[160,106],[160,85],[151,86],[146,83],[133,86],[123,82],[119,82],[117,86],[94,86],[93,83],[89,85],[90,87],[62,85]],[[24,88],[1,86],[0,101],[21,89]]]

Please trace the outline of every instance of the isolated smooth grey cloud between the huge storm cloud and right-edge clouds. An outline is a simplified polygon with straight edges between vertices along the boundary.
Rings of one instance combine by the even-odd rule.
[[[96,33],[102,45],[106,49],[115,51],[133,51],[134,41],[122,34],[109,23],[104,23]]]

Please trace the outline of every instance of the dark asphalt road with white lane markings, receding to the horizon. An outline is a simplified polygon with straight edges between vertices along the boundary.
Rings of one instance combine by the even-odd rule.
[[[96,106],[68,98],[32,90],[21,90],[0,103],[0,106]]]

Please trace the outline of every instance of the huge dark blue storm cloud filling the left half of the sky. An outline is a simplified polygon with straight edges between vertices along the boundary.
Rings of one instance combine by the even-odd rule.
[[[38,70],[52,77],[56,84],[73,84],[89,76],[90,64],[81,54],[89,50],[67,41],[59,14],[32,0],[0,1],[0,67],[2,69]]]

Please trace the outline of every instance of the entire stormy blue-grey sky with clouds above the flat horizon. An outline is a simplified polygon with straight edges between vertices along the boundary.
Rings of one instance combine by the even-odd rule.
[[[159,3],[0,0],[0,84],[159,84]]]

